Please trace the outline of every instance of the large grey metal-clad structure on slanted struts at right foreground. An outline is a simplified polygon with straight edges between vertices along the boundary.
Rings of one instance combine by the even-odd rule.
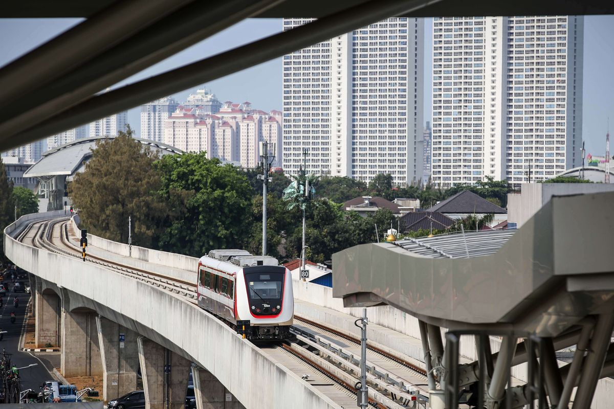
[[[389,304],[418,318],[435,368],[430,386],[437,378],[446,407],[465,396],[477,407],[520,408],[547,395],[549,407],[562,409],[575,386],[573,408],[589,407],[597,380],[614,375],[612,202],[614,193],[553,197],[517,231],[340,251],[333,297],[346,307]],[[480,359],[459,365],[467,334],[476,336]],[[498,354],[488,335],[502,337]],[[572,363],[559,369],[555,351],[572,345]],[[523,362],[529,382],[506,388],[510,367]]]

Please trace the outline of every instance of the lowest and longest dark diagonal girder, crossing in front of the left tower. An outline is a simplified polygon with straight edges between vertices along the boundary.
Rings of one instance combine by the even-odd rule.
[[[384,18],[412,12],[439,0],[371,0],[351,10],[275,34],[188,66],[157,75],[115,91],[91,97],[18,134],[2,134],[0,150],[32,142],[65,129],[130,109],[190,86],[223,77],[270,59],[308,47]],[[10,142],[9,142],[10,140]]]

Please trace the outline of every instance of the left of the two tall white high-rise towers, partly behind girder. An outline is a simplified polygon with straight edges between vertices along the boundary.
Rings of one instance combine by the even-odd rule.
[[[284,19],[284,30],[309,19]],[[388,18],[284,56],[283,167],[398,185],[422,177],[424,21]]]

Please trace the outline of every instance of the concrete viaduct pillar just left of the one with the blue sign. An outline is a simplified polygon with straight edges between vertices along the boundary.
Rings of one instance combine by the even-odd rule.
[[[68,294],[62,297],[60,369],[64,377],[103,375],[98,344],[96,313],[87,308],[69,308]]]

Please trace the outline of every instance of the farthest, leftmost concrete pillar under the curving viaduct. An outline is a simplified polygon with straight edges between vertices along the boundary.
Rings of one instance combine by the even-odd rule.
[[[36,280],[34,292],[35,326],[34,343],[37,347],[60,345],[60,296],[55,292],[42,291],[41,280]],[[7,299],[7,302],[9,300]]]

